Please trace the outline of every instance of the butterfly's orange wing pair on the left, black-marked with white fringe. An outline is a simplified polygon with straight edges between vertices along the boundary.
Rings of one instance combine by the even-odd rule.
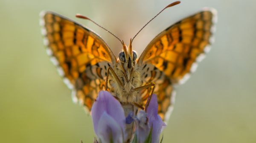
[[[41,13],[40,22],[52,62],[73,89],[74,99],[90,111],[116,57],[100,36],[77,22],[49,11]]]

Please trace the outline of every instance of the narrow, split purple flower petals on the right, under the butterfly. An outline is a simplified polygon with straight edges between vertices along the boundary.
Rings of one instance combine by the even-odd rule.
[[[157,114],[157,95],[153,94],[148,105],[147,112],[140,110],[137,114],[137,139],[138,143],[144,143],[152,129],[151,143],[159,143],[159,136],[166,124]]]

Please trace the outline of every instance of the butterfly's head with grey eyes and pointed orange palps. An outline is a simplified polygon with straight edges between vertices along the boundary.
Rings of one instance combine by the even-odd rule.
[[[119,56],[118,56],[119,60],[122,63],[124,63],[125,67],[127,67],[128,69],[132,69],[137,59],[137,53],[134,50],[132,50],[131,40],[128,47],[124,44],[123,41],[122,41],[122,45],[123,45],[123,49],[119,53]]]

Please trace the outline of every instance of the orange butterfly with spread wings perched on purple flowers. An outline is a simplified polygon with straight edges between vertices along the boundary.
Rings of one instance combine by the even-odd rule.
[[[51,11],[43,11],[40,20],[47,53],[72,90],[73,101],[90,112],[99,91],[106,89],[121,103],[145,107],[154,93],[165,121],[174,104],[174,86],[184,83],[209,51],[215,22],[216,11],[204,8],[160,32],[140,57],[133,39],[128,46],[120,40],[122,51],[116,58],[99,35],[78,22]]]

